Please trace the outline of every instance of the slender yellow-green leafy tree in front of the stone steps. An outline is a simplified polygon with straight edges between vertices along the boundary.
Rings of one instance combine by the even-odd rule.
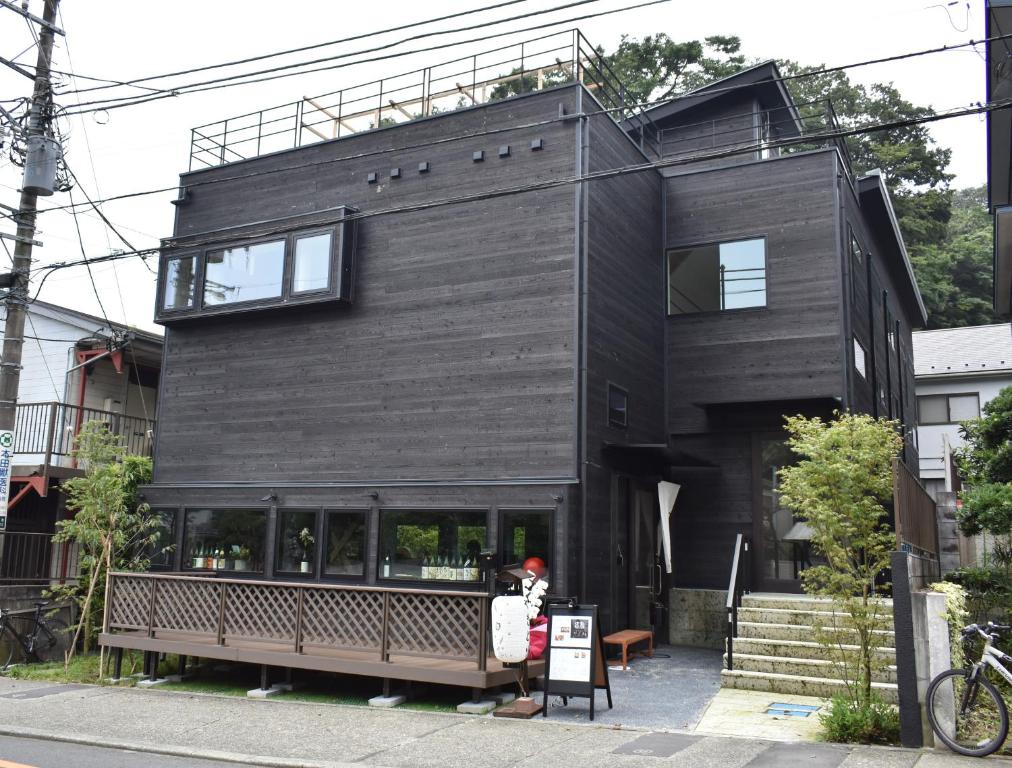
[[[812,529],[825,565],[802,574],[805,591],[829,597],[850,630],[856,650],[839,632],[821,637],[845,673],[852,702],[872,704],[871,680],[879,658],[875,631],[888,613],[875,599],[876,582],[889,568],[895,537],[883,502],[893,493],[893,459],[903,447],[895,421],[837,413],[831,422],[794,416],[786,420],[788,447],[799,457],[780,470],[780,497]],[[835,641],[835,642],[833,642]]]

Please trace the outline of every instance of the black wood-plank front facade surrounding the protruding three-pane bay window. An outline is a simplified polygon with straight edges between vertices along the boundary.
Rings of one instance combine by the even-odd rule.
[[[563,122],[361,155],[544,120],[561,104],[572,111],[575,92],[186,175],[184,187],[233,180],[193,186],[177,235],[572,175],[575,129]],[[529,149],[533,139],[543,150]],[[484,162],[473,162],[478,150]],[[173,326],[155,481],[573,477],[574,221],[572,187],[364,219],[351,307]]]

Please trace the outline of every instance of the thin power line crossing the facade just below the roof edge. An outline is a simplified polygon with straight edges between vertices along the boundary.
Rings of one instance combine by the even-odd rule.
[[[807,72],[800,72],[800,73],[797,73],[797,74],[794,74],[794,75],[783,75],[783,76],[780,77],[780,80],[790,81],[790,80],[800,80],[800,79],[811,78],[811,77],[818,77],[819,75],[830,74],[830,73],[833,73],[833,72],[840,72],[840,71],[850,70],[850,69],[857,69],[857,68],[860,68],[860,67],[866,67],[866,66],[869,66],[869,65],[873,65],[873,64],[883,64],[883,63],[889,63],[889,62],[894,62],[894,61],[900,61],[900,60],[904,60],[904,59],[912,59],[912,58],[915,58],[915,57],[922,57],[922,56],[929,56],[929,55],[944,53],[944,52],[948,52],[948,51],[957,51],[959,49],[963,49],[963,48],[967,48],[967,47],[972,47],[972,46],[976,46],[976,45],[980,45],[980,44],[993,42],[993,41],[997,41],[997,40],[1007,40],[1010,37],[1012,37],[1012,33],[1007,33],[1007,34],[1003,33],[1003,34],[999,34],[999,35],[994,35],[994,36],[991,36],[991,37],[987,37],[987,38],[984,38],[984,39],[981,39],[981,40],[974,40],[974,39],[967,40],[966,42],[961,42],[961,44],[958,44],[958,45],[955,45],[955,46],[942,46],[942,47],[939,47],[939,48],[924,49],[924,50],[921,50],[921,51],[913,51],[913,52],[908,52],[908,53],[905,53],[905,54],[897,54],[895,56],[881,57],[881,58],[877,58],[877,59],[866,59],[866,60],[862,60],[862,61],[858,61],[858,62],[853,62],[851,64],[835,65],[833,67],[823,67],[823,68],[820,68],[820,69],[809,70]],[[679,94],[679,95],[676,95],[676,96],[670,96],[670,97],[667,97],[667,98],[657,99],[657,100],[654,100],[654,101],[645,101],[645,102],[641,102],[641,103],[627,104],[627,105],[620,106],[620,107],[611,107],[611,108],[606,108],[606,109],[600,109],[600,110],[597,110],[595,112],[588,112],[587,114],[588,115],[600,114],[600,113],[609,113],[610,114],[610,113],[613,113],[613,112],[623,112],[623,111],[627,111],[627,110],[630,110],[630,109],[649,108],[649,107],[652,107],[652,106],[658,106],[658,105],[661,105],[661,104],[666,104],[666,103],[681,101],[681,100],[684,100],[684,99],[696,98],[696,97],[698,97],[700,95],[709,96],[709,95],[714,95],[714,94],[730,93],[730,92],[733,92],[733,91],[743,90],[743,89],[752,88],[752,87],[754,87],[754,85],[751,84],[751,83],[739,84],[739,85],[730,85],[730,86],[722,86],[722,87],[715,87],[715,88],[710,88],[710,87],[705,87],[704,86],[701,89],[696,89],[694,91],[689,91],[687,93]],[[570,118],[571,118],[570,116],[566,116],[566,117],[553,117],[553,118],[549,118],[549,119],[545,119],[545,120],[539,120],[539,121],[536,121],[536,122],[528,122],[528,123],[520,124],[520,125],[512,125],[512,126],[504,127],[504,129],[489,129],[489,130],[486,130],[486,131],[474,132],[474,133],[471,133],[471,134],[457,135],[457,136],[454,136],[454,137],[448,137],[448,138],[445,138],[445,139],[442,139],[442,140],[438,140],[438,142],[429,141],[429,142],[426,142],[424,144],[404,145],[404,146],[400,146],[400,147],[386,148],[386,149],[381,149],[381,150],[374,150],[374,151],[369,151],[369,152],[358,153],[358,154],[355,154],[355,155],[348,155],[348,156],[344,156],[344,157],[340,157],[340,158],[335,158],[335,159],[327,160],[327,161],[314,162],[314,163],[306,163],[306,164],[298,164],[298,165],[285,166],[283,168],[265,169],[265,170],[262,170],[262,171],[252,171],[250,173],[245,173],[245,174],[241,174],[241,175],[222,176],[222,177],[218,177],[218,178],[204,179],[204,180],[196,179],[196,180],[187,182],[186,187],[187,188],[195,188],[195,187],[203,186],[203,185],[206,185],[206,184],[219,184],[219,183],[224,183],[224,182],[229,182],[229,181],[237,181],[237,180],[241,180],[241,179],[254,178],[254,177],[257,177],[257,176],[266,176],[266,175],[275,174],[275,173],[286,173],[286,172],[289,172],[289,171],[300,170],[302,168],[314,167],[314,166],[325,164],[325,163],[338,163],[338,162],[342,162],[344,160],[349,160],[349,159],[358,159],[358,158],[365,158],[365,157],[378,156],[378,155],[388,155],[388,154],[397,153],[397,152],[403,152],[403,151],[409,151],[409,150],[413,150],[413,149],[419,149],[421,147],[429,146],[429,145],[437,144],[437,143],[447,143],[447,142],[452,142],[452,141],[463,141],[463,140],[468,140],[468,139],[480,138],[480,137],[483,137],[483,136],[490,136],[490,135],[495,135],[495,134],[499,134],[499,133],[504,133],[504,132],[507,132],[507,131],[515,131],[515,130],[519,130],[519,129],[524,129],[524,127],[537,127],[537,126],[546,125],[546,124],[550,124],[550,123],[553,123],[553,122],[564,121],[564,120],[567,120],[567,119],[570,119]],[[309,146],[309,145],[307,145],[307,146]],[[105,202],[112,202],[112,201],[116,201],[116,200],[131,199],[131,198],[134,198],[134,197],[143,197],[143,196],[149,195],[149,194],[161,194],[163,192],[176,192],[176,191],[178,191],[178,189],[179,189],[179,185],[174,185],[174,186],[168,186],[168,187],[159,187],[159,188],[156,188],[156,189],[148,189],[148,190],[143,190],[143,191],[138,191],[138,192],[126,192],[126,193],[123,193],[123,194],[113,195],[113,196],[110,196],[110,197],[105,197],[105,198],[102,198],[102,199],[95,200],[92,204],[102,204],[102,203],[105,203]],[[77,204],[83,205],[85,203],[77,203]],[[51,210],[65,210],[65,209],[69,209],[71,207],[73,207],[73,204],[69,204],[69,205],[53,205],[53,206],[49,206],[49,207],[45,207],[45,208],[39,208],[38,212],[39,214],[45,214],[45,212],[48,212],[48,211],[51,211]]]

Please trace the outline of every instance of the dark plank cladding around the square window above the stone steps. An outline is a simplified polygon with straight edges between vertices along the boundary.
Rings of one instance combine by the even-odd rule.
[[[761,309],[668,319],[669,428],[721,403],[842,398],[836,154],[667,179],[667,247],[766,238]]]

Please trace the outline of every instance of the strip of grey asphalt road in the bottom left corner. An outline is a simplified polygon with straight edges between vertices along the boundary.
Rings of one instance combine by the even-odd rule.
[[[237,768],[235,763],[0,736],[0,768]]]

